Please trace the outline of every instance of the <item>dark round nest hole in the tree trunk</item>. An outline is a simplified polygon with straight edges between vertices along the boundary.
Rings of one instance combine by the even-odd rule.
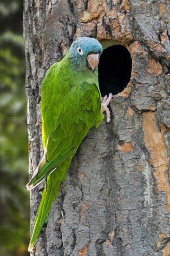
[[[98,82],[102,96],[118,94],[127,87],[131,78],[131,54],[123,45],[104,49],[98,64]]]

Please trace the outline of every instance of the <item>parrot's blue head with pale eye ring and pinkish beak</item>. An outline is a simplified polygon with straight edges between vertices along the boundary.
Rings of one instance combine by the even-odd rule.
[[[70,47],[69,58],[77,70],[94,72],[98,67],[101,53],[102,46],[98,40],[90,37],[78,37]]]

